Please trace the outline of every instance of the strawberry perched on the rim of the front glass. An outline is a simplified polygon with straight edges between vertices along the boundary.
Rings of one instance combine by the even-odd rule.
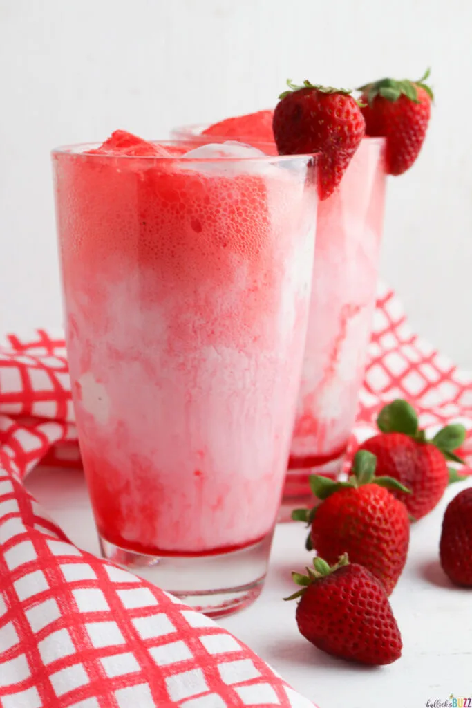
[[[365,133],[355,98],[345,89],[304,81],[281,93],[274,111],[274,137],[281,155],[320,152],[319,192],[326,199],[341,181]]]

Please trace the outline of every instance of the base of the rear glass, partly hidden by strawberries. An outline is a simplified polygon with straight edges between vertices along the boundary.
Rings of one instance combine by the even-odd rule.
[[[313,467],[302,467],[298,469],[288,469],[285,477],[284,496],[280,505],[278,523],[292,521],[292,511],[294,509],[313,508],[319,501],[313,496],[309,484],[311,474],[323,474],[326,477],[336,479],[343,469],[345,454],[331,459],[329,462],[315,465]]]

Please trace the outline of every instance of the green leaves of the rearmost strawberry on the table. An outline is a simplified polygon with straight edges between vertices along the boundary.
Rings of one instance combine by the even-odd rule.
[[[450,462],[464,464],[464,460],[454,450],[461,447],[466,439],[466,428],[461,423],[451,423],[439,430],[432,440],[427,440],[424,430],[420,430],[418,416],[408,401],[396,399],[381,409],[377,417],[381,433],[404,433],[418,442],[431,442]]]

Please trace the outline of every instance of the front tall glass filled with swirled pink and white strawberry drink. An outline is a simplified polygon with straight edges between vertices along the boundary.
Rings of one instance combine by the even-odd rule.
[[[217,615],[265,575],[309,312],[316,159],[186,149],[117,131],[55,151],[57,222],[103,553],[156,566],[156,583]]]

